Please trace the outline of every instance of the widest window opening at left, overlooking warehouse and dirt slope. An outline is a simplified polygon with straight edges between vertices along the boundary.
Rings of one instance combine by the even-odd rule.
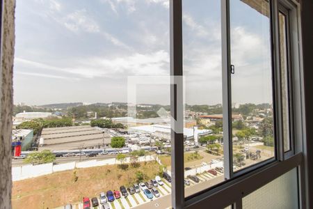
[[[170,173],[168,7],[17,0],[13,208],[83,208],[83,197],[110,208],[171,206],[162,176]],[[31,159],[37,149],[54,154]],[[154,194],[130,187],[156,176]],[[121,197],[111,201],[109,190]]]

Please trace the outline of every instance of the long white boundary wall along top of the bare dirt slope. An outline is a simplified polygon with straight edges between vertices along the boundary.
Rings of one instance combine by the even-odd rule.
[[[147,155],[143,157],[138,157],[137,162],[144,162],[144,161],[152,161],[155,158],[152,155]],[[131,162],[130,157],[126,157],[123,163]],[[67,171],[72,169],[80,169],[80,168],[88,168],[88,167],[99,167],[109,164],[119,164],[120,162],[115,158],[110,158],[106,160],[88,160],[83,162],[67,162],[63,164],[26,164],[21,167],[13,167],[12,168],[12,178],[13,181],[15,180],[23,180],[27,178],[34,178],[38,176],[43,176],[47,174],[51,174],[58,171]]]

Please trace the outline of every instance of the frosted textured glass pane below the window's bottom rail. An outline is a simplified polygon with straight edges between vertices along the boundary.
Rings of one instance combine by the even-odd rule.
[[[297,169],[276,178],[264,187],[257,189],[242,201],[242,208],[298,208],[298,175]]]

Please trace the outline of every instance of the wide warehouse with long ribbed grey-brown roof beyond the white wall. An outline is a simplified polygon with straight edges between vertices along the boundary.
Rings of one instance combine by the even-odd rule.
[[[44,128],[39,150],[77,150],[104,148],[111,144],[111,137],[99,127],[79,125]]]

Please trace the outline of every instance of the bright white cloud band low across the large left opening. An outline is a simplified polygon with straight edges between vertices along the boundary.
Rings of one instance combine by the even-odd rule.
[[[122,77],[127,75],[169,75],[169,54],[164,51],[150,54],[131,54],[114,59],[95,57],[70,61],[70,66],[59,67],[26,59],[15,59],[15,65],[32,70],[63,73],[92,79],[95,77]],[[64,75],[62,75],[64,76]],[[70,76],[70,75],[69,75]]]

